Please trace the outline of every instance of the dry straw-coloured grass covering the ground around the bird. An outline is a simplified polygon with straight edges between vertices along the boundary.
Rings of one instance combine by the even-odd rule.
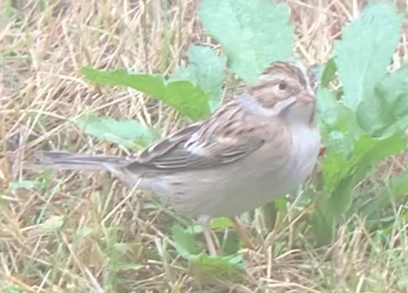
[[[296,52],[323,62],[357,0],[287,0]],[[407,11],[404,1],[398,5]],[[352,218],[330,247],[313,248],[296,225],[296,206],[273,232],[260,222],[239,282],[200,285],[169,238],[176,215],[103,174],[23,174],[35,148],[123,150],[84,137],[70,122],[83,113],[134,117],[167,133],[179,119],[134,90],[100,88],[83,65],[167,74],[191,42],[205,43],[196,0],[28,0],[0,2],[0,288],[4,292],[406,292],[408,227],[375,233]],[[273,33],[273,32],[271,32]],[[406,31],[394,63],[408,56]],[[398,159],[393,159],[398,163]],[[394,165],[398,165],[398,164]],[[391,167],[385,164],[385,173]],[[7,191],[36,178],[44,189]],[[283,235],[278,237],[279,235]],[[273,241],[279,238],[278,241]],[[272,245],[271,242],[273,242]],[[126,266],[126,267],[125,267]],[[228,289],[232,288],[232,289]]]

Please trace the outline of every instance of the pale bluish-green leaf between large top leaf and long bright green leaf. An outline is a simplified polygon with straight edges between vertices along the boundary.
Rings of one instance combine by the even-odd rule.
[[[170,80],[187,80],[198,84],[208,95],[208,105],[213,112],[221,101],[221,86],[224,81],[225,57],[220,57],[209,47],[192,45],[187,57],[190,65],[179,67]]]

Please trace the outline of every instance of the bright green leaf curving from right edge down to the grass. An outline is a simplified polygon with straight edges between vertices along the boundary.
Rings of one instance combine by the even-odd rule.
[[[332,240],[334,226],[342,214],[350,209],[352,191],[356,185],[372,171],[376,163],[404,150],[406,146],[407,138],[404,133],[383,139],[363,135],[355,141],[351,157],[341,152],[324,157],[321,163],[324,188],[322,194],[317,196],[316,209],[309,216],[310,225],[320,244],[327,244]],[[400,191],[406,187],[404,184],[400,186]]]

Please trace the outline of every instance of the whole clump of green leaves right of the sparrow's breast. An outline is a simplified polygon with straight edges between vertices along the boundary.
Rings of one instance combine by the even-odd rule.
[[[327,150],[320,164],[316,208],[309,216],[320,243],[330,242],[336,224],[360,210],[351,205],[352,191],[375,164],[406,149],[408,67],[386,74],[401,26],[402,16],[394,5],[372,3],[342,29],[333,59],[323,70],[317,110]],[[328,88],[335,69],[342,86],[337,92]],[[374,207],[366,208],[364,216],[372,216],[369,211]]]

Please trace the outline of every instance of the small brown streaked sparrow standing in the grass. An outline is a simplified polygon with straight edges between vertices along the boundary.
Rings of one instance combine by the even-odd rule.
[[[320,150],[312,71],[301,62],[272,62],[252,85],[203,121],[128,157],[41,151],[31,169],[107,170],[152,190],[166,206],[196,219],[211,256],[209,222],[237,216],[295,192]]]

